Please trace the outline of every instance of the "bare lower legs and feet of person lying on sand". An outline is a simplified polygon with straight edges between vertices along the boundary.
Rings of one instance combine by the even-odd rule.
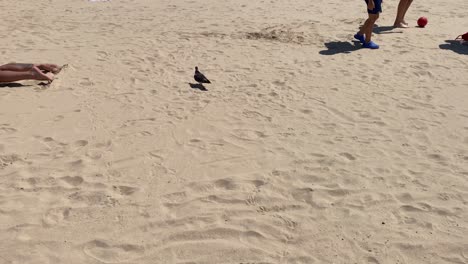
[[[39,80],[52,82],[62,67],[55,64],[8,63],[0,66],[0,82]]]

